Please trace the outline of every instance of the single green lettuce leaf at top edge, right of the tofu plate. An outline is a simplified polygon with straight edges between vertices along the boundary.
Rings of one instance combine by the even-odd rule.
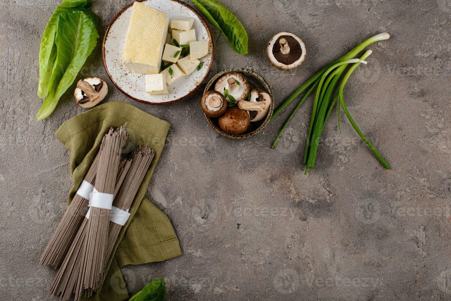
[[[248,34],[230,10],[216,0],[192,0],[194,5],[226,37],[230,47],[240,55],[248,53]]]

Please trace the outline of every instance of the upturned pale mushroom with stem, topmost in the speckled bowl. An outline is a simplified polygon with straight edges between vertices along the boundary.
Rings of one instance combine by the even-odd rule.
[[[226,96],[227,90],[227,96],[229,96],[228,98],[230,101],[235,103],[248,96],[249,82],[243,74],[238,72],[229,72],[218,79],[215,85],[215,90],[221,92],[224,96]]]

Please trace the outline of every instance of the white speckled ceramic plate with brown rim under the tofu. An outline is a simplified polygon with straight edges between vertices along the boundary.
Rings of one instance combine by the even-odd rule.
[[[145,5],[152,6],[169,15],[170,20],[176,16],[194,18],[193,28],[196,30],[198,41],[210,41],[208,55],[199,59],[204,64],[189,76],[180,79],[168,87],[169,94],[149,95],[146,93],[145,76],[133,73],[124,68],[122,55],[124,53],[125,37],[129,27],[133,3],[125,6],[111,20],[106,29],[102,43],[102,59],[106,73],[115,86],[130,98],[152,105],[165,105],[189,96],[207,78],[213,62],[214,46],[207,23],[191,6],[179,0],[139,0]],[[171,30],[168,32],[167,42],[172,41]]]

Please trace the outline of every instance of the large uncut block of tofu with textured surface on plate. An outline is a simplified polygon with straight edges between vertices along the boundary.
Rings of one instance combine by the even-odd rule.
[[[122,56],[125,69],[142,74],[160,72],[168,25],[168,14],[139,2],[133,4]]]

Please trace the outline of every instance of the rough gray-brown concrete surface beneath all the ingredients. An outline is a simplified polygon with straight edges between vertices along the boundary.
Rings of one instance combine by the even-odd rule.
[[[35,118],[39,43],[57,2],[0,4],[1,300],[54,300],[47,292],[55,272],[37,259],[72,186],[69,153],[54,132],[83,112],[71,87],[49,118]],[[103,33],[129,0],[93,2]],[[247,29],[250,54],[235,54],[212,28],[210,76],[251,68],[271,84],[277,104],[318,68],[389,32],[345,94],[392,169],[378,164],[346,119],[340,135],[334,113],[316,169],[304,176],[311,100],[271,150],[288,111],[258,137],[231,141],[209,128],[200,92],[149,106],[110,84],[108,100],[172,124],[147,195],[171,219],[184,251],[125,267],[129,290],[164,277],[167,300],[451,300],[451,1],[222,2]],[[266,59],[267,41],[282,30],[307,45],[305,63],[293,72]],[[100,47],[77,80],[91,75],[107,78]]]

